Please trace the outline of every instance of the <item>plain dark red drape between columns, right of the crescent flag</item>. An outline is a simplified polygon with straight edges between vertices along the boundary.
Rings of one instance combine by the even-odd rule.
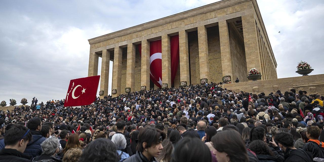
[[[178,65],[179,65],[179,35],[170,37],[170,51],[171,51],[171,84],[173,84],[174,78],[176,77],[178,71]]]

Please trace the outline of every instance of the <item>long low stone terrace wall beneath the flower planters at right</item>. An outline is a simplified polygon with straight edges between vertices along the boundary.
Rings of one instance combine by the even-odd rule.
[[[270,80],[258,80],[251,82],[240,82],[224,84],[222,87],[234,91],[244,91],[259,94],[264,92],[266,95],[280,90],[282,93],[289,91],[292,88],[298,90],[305,90],[307,94],[324,94],[324,74],[297,76],[289,78],[279,78]],[[255,87],[255,88],[253,88]],[[256,90],[256,91],[253,91]]]

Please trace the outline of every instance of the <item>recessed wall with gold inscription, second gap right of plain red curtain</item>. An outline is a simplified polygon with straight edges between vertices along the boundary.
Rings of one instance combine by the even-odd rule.
[[[208,82],[219,83],[222,81],[222,63],[221,63],[221,47],[219,42],[218,25],[207,28],[208,40],[208,59],[209,59],[209,80]]]

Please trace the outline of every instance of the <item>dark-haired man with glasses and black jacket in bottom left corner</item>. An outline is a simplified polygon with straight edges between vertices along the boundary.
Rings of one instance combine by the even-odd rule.
[[[30,156],[23,154],[31,140],[30,130],[16,124],[6,132],[5,148],[0,151],[1,162],[31,162]]]

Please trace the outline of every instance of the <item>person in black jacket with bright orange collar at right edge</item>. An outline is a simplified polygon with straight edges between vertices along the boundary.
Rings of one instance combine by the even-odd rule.
[[[309,140],[302,147],[304,151],[311,152],[314,158],[315,157],[324,158],[324,143],[318,140],[320,132],[321,131],[318,128],[318,126],[307,127],[306,136]]]

